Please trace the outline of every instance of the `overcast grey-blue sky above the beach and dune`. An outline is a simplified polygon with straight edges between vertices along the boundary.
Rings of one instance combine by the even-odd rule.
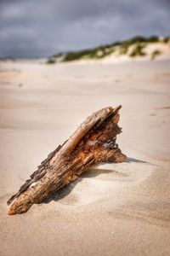
[[[170,35],[170,0],[0,0],[0,56],[47,57]]]

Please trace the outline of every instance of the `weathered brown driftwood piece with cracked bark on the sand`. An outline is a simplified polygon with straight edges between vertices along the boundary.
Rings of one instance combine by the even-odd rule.
[[[19,192],[8,200],[8,204],[14,201],[8,214],[26,212],[33,204],[41,203],[54,191],[76,180],[91,166],[126,160],[126,155],[116,144],[116,135],[122,131],[117,125],[121,107],[103,108],[85,119],[77,131],[49,154]]]

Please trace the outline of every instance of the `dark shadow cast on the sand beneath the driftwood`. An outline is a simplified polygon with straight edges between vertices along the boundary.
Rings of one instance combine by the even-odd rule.
[[[128,163],[128,164],[133,163],[133,162],[139,163],[139,164],[144,164],[144,165],[155,166],[154,164],[151,164],[150,162],[147,162],[144,160],[138,160],[138,159],[131,158],[131,157],[127,157],[127,160],[125,161],[125,163]],[[101,166],[101,165],[105,166],[105,163],[103,163],[103,164],[101,163],[99,166]],[[67,186],[57,190],[52,195],[48,196],[48,198],[46,198],[44,201],[42,201],[42,203],[48,203],[50,201],[58,201],[58,200],[64,198],[66,195],[69,195],[71,193],[72,189],[74,189],[75,186],[77,185],[77,183],[81,182],[83,178],[97,177],[103,173],[115,173],[116,176],[120,176],[120,177],[127,176],[125,173],[122,173],[122,172],[116,172],[115,170],[106,170],[105,168],[97,169],[95,166],[95,168],[91,168],[87,172],[82,173],[82,175],[80,177],[78,177],[76,181],[68,184]]]

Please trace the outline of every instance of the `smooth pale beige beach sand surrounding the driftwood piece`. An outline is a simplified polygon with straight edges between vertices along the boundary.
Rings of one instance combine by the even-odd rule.
[[[170,255],[170,61],[0,63],[0,254]],[[127,162],[98,166],[55,201],[6,201],[88,114],[122,104]]]

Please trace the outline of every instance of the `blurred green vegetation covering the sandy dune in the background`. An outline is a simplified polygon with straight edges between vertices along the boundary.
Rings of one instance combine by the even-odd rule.
[[[151,36],[150,38],[134,37],[122,42],[115,42],[113,44],[105,44],[92,49],[82,49],[77,51],[68,51],[59,53],[48,58],[47,63],[53,64],[56,61],[79,61],[79,60],[99,60],[105,58],[107,55],[128,55],[130,57],[144,56],[144,48],[147,44],[154,44],[162,42],[167,44],[170,42],[170,37],[159,38],[157,36]],[[152,53],[151,59],[154,60],[157,55],[160,55],[157,51]]]

